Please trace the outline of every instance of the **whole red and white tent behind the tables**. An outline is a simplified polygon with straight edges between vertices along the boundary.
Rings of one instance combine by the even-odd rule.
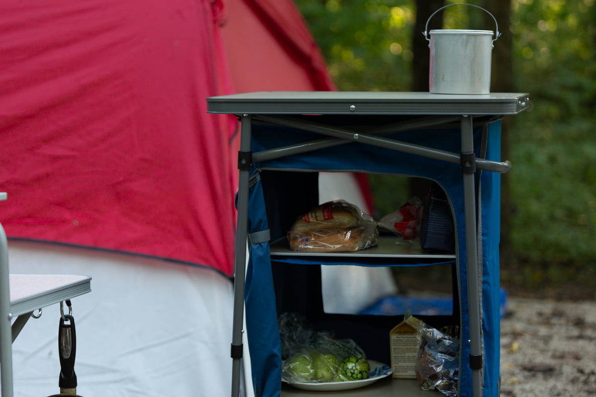
[[[15,273],[93,277],[82,395],[229,395],[238,123],[205,98],[329,89],[291,0],[0,2],[0,222]],[[54,320],[15,341],[27,395],[57,386]]]

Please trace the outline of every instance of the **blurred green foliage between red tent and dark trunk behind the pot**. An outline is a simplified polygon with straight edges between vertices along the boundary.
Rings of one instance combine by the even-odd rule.
[[[343,91],[405,91],[411,84],[412,1],[296,2]]]

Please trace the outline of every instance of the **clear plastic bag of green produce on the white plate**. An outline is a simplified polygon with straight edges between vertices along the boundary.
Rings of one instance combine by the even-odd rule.
[[[296,314],[282,314],[279,326],[285,382],[346,382],[368,378],[370,365],[364,351],[353,340],[334,339],[329,332],[313,331]]]

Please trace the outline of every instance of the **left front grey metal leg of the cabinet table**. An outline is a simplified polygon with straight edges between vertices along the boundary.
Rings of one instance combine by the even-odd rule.
[[[250,152],[251,117],[241,119],[240,152]],[[240,157],[240,156],[239,156]],[[240,370],[242,364],[242,333],[244,318],[244,279],[246,277],[246,235],[249,212],[250,164],[241,164],[238,178],[238,222],[236,230],[236,251],[234,270],[234,318],[232,322],[232,397],[240,396]]]

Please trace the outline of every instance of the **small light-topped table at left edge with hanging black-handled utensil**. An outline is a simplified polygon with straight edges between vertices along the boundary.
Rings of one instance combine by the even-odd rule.
[[[0,193],[0,200],[6,196]],[[89,276],[8,274],[8,243],[0,224],[0,396],[13,396],[12,343],[33,311],[89,291]]]

